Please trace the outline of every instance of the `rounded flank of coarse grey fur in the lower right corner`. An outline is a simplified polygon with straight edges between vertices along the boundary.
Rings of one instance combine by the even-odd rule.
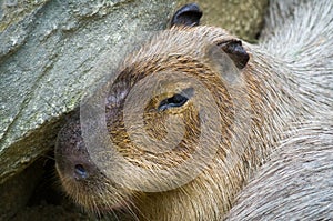
[[[287,138],[238,197],[226,220],[333,218],[333,125],[313,119]]]

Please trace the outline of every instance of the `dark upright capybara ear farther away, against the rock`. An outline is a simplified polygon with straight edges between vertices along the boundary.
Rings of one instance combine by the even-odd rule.
[[[189,3],[180,8],[172,17],[170,27],[185,26],[194,27],[199,26],[202,11],[195,3]]]

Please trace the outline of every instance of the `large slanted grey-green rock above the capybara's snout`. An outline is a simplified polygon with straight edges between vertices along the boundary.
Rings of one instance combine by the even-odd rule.
[[[134,33],[161,30],[172,1],[1,3],[0,183],[50,150],[56,119],[104,78],[91,70]]]

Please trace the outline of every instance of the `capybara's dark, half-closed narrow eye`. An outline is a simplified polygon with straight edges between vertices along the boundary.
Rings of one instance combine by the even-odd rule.
[[[169,108],[182,107],[185,102],[188,102],[188,100],[192,96],[193,96],[193,89],[192,88],[185,89],[181,93],[175,93],[173,97],[162,100],[158,107],[158,110],[164,111]]]

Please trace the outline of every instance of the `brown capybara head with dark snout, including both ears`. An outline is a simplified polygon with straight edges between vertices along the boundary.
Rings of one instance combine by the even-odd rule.
[[[223,29],[199,27],[200,17],[196,4],[184,6],[171,29],[124,60],[103,100],[104,133],[93,119],[82,124],[80,112],[91,106],[77,109],[60,131],[57,170],[79,204],[167,220],[230,207],[251,161],[240,132],[249,127],[240,119],[250,118],[243,74],[250,57]]]

